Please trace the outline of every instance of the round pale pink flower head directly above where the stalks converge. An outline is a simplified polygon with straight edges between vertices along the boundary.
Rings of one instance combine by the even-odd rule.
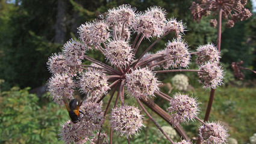
[[[133,60],[134,53],[128,41],[113,40],[107,44],[105,56],[111,65],[116,67],[126,67]]]

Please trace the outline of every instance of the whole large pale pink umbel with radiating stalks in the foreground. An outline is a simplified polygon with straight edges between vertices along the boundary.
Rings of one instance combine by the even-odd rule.
[[[63,46],[63,52],[54,54],[49,58],[49,70],[53,74],[48,82],[49,92],[51,92],[55,103],[63,105],[62,96],[72,99],[74,91],[80,91],[88,95],[87,99],[80,107],[80,121],[73,124],[67,121],[61,128],[61,139],[66,143],[105,143],[102,140],[102,124],[104,119],[110,119],[110,143],[112,142],[112,131],[117,131],[121,136],[125,136],[130,142],[133,134],[139,133],[143,126],[143,115],[136,106],[125,104],[125,98],[135,98],[140,108],[149,116],[151,121],[160,129],[171,143],[173,142],[161,127],[154,121],[147,112],[141,101],[150,102],[148,97],[161,97],[169,101],[170,107],[166,110],[170,112],[169,124],[179,127],[180,122],[198,119],[198,104],[196,99],[177,93],[174,98],[164,94],[158,88],[156,74],[170,73],[175,71],[197,72],[199,82],[205,88],[216,88],[223,79],[222,67],[219,65],[219,53],[213,44],[199,46],[198,52],[189,52],[187,43],[181,38],[185,26],[176,19],[167,20],[165,11],[160,7],[148,8],[145,12],[137,12],[130,5],[121,5],[108,10],[105,20],[95,20],[86,22],[78,28],[79,40],[67,41]],[[174,32],[176,38],[166,43],[166,48],[157,53],[148,53],[161,38]],[[131,34],[137,34],[131,43]],[[143,39],[157,37],[148,49],[135,58],[135,53],[139,49]],[[86,55],[87,51],[99,50],[107,59],[109,64],[97,61]],[[197,55],[196,62],[200,64],[199,70],[188,70],[191,55]],[[92,62],[92,65],[83,65],[83,60]],[[174,70],[174,68],[178,68]],[[184,69],[183,69],[184,68]],[[158,69],[155,70],[155,69]],[[162,70],[161,70],[162,69]],[[172,69],[172,70],[169,70]],[[79,89],[79,90],[77,90]],[[113,98],[117,91],[117,97]],[[110,92],[110,101],[107,108],[102,107],[102,100]],[[125,93],[127,92],[127,93]],[[111,100],[115,100],[110,116],[107,116]],[[117,107],[117,103],[121,103]],[[151,103],[154,103],[151,101]],[[149,106],[150,109],[156,109]],[[160,109],[160,108],[157,108]],[[164,114],[159,114],[163,116]],[[202,122],[202,121],[201,121]],[[204,127],[211,125],[204,124]],[[202,130],[201,130],[202,131]],[[215,129],[207,133],[204,130],[203,139],[207,135],[219,137],[214,133]],[[180,128],[181,136],[186,140],[178,143],[192,143]],[[207,134],[205,134],[207,133]],[[221,136],[225,142],[226,131]],[[217,135],[216,135],[217,134]],[[102,138],[103,137],[103,138]],[[217,141],[216,141],[217,142]]]

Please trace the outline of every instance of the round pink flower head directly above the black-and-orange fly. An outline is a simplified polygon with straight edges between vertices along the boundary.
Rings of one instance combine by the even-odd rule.
[[[54,74],[49,79],[48,91],[52,95],[52,100],[57,104],[63,103],[63,95],[68,99],[73,98],[73,88],[75,87],[73,80],[67,74]]]

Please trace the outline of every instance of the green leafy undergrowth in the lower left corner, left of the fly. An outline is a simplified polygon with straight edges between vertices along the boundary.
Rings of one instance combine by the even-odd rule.
[[[60,122],[68,118],[66,110],[52,102],[40,104],[28,89],[1,93],[0,143],[60,143],[57,134]]]

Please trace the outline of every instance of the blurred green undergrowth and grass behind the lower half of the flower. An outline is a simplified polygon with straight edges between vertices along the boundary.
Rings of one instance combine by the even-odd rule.
[[[172,91],[170,95],[175,92]],[[210,89],[196,88],[187,93],[190,93],[190,96],[193,94],[193,97],[198,97],[198,102],[201,103],[199,118],[203,119]],[[211,121],[222,121],[222,124],[228,127],[231,137],[237,139],[239,143],[248,143],[249,137],[256,133],[255,94],[255,88],[217,88],[210,115]],[[104,99],[103,109],[105,109],[109,97],[110,95],[107,95]],[[131,98],[127,103],[134,104],[134,102],[135,100]],[[161,98],[157,98],[155,102],[163,109],[169,106],[169,103]],[[114,101],[111,106],[113,104]],[[48,101],[46,96],[40,99],[34,94],[28,94],[28,88],[14,87],[10,91],[1,93],[0,109],[0,143],[61,143],[58,140],[60,122],[67,121],[69,116],[64,107],[57,106],[51,100]],[[148,112],[161,127],[168,125],[151,110],[148,109]],[[142,114],[145,115],[143,112]],[[131,143],[143,144],[145,140],[147,143],[169,143],[161,136],[160,131],[149,121],[147,116],[145,116],[144,125],[145,127],[140,130],[141,133],[131,137]],[[181,125],[190,138],[197,136],[199,122],[183,122]],[[105,133],[109,134],[108,130],[109,121],[106,119]],[[180,137],[176,137],[174,140],[179,141]],[[120,137],[114,132],[113,143],[127,143],[127,141],[125,137]]]

